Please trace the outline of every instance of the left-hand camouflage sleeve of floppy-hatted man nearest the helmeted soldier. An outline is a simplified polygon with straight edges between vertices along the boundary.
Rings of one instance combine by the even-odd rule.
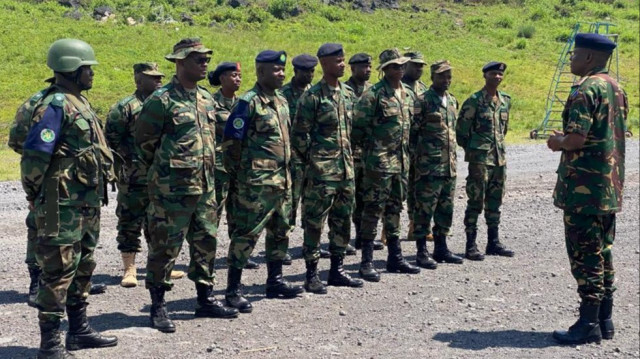
[[[136,121],[135,148],[145,173],[153,163],[156,149],[160,145],[165,121],[164,107],[162,98],[153,95],[142,105]]]

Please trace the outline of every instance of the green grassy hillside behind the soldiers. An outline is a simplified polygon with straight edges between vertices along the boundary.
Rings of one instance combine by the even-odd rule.
[[[452,62],[452,92],[461,101],[483,85],[482,65],[501,60],[509,66],[503,90],[514,99],[513,132],[508,137],[513,142],[524,141],[541,122],[559,52],[574,24],[608,21],[620,34],[621,83],[631,102],[631,130],[638,133],[638,0],[416,0],[400,1],[400,10],[374,13],[352,10],[349,3],[323,5],[320,0],[259,0],[236,9],[220,5],[226,0],[77,2],[83,5],[77,10],[57,1],[0,3],[0,180],[17,174],[17,158],[5,146],[15,110],[44,86],[42,81],[50,75],[45,65],[48,46],[62,37],[80,38],[94,47],[100,65],[88,97],[102,116],[133,91],[133,63],[157,61],[171,74],[172,64],[163,56],[179,39],[191,36],[214,49],[213,63],[243,63],[243,89],[255,80],[253,58],[266,48],[285,49],[291,55],[315,53],[321,43],[331,41],[342,42],[347,55],[364,51],[377,57],[389,47],[420,50],[430,62]],[[101,5],[110,6],[115,17],[93,19],[93,9]],[[73,11],[79,20],[64,16]],[[290,15],[296,12],[300,14]],[[193,25],[182,22],[182,14]],[[128,25],[129,16],[138,24]],[[287,72],[288,77],[293,73],[291,68]]]

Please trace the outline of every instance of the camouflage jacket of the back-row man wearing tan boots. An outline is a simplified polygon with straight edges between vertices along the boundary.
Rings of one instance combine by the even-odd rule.
[[[147,184],[147,173],[138,159],[133,137],[143,102],[142,94],[136,91],[113,105],[107,115],[107,123],[105,125],[107,142],[111,149],[124,159],[123,164],[118,164],[119,161],[116,158],[116,167],[121,167],[116,168],[118,182],[121,184]]]

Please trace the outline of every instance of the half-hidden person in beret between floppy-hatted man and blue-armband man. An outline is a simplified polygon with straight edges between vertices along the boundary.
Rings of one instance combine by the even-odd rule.
[[[227,205],[227,195],[229,193],[229,174],[222,164],[222,137],[227,118],[231,113],[233,105],[238,101],[236,92],[242,84],[242,70],[239,62],[222,62],[215,70],[207,75],[211,86],[220,86],[220,89],[213,94],[213,101],[216,107],[216,203],[218,204],[218,214],[216,227],[219,228],[222,209]],[[228,211],[227,211],[228,213]],[[227,226],[233,225],[227,221]],[[231,233],[231,230],[229,230]],[[245,268],[258,269],[260,265],[249,259]]]

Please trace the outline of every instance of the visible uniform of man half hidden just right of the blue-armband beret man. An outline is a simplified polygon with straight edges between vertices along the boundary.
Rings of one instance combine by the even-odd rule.
[[[298,89],[293,85],[292,82],[282,86],[279,90],[282,96],[287,99],[287,103],[289,104],[289,128],[291,128],[291,124],[296,115],[296,109],[298,108],[298,100],[300,96],[311,88],[311,85],[307,85],[304,89]],[[295,227],[296,225],[296,217],[298,215],[298,204],[302,198],[302,189],[305,187],[305,164],[304,161],[298,157],[295,151],[291,152],[291,226]]]

